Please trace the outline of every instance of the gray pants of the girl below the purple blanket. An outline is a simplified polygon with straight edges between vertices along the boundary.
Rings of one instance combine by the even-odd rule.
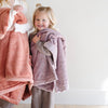
[[[54,94],[32,87],[31,108],[54,108]]]

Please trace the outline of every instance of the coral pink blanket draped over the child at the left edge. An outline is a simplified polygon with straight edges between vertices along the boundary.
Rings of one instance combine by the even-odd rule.
[[[32,72],[29,60],[27,33],[8,30],[10,9],[0,9],[0,98],[13,104],[30,96]],[[13,21],[27,23],[23,13],[17,13]],[[13,24],[14,24],[13,23]]]

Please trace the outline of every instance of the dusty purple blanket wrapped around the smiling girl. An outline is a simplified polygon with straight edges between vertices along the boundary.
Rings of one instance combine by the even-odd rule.
[[[51,56],[40,52],[37,43],[30,43],[35,86],[48,92],[67,90],[65,40],[59,32],[50,28],[39,31],[37,36],[41,36],[40,41],[43,48],[50,51]]]

